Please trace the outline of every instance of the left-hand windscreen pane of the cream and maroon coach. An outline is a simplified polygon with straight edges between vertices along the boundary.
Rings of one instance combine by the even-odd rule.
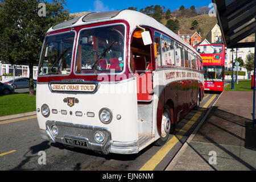
[[[69,75],[75,32],[46,37],[39,63],[39,75]]]

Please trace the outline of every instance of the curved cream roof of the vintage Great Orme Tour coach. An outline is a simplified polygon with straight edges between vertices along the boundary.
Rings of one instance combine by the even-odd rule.
[[[195,52],[198,56],[200,56],[199,53],[197,53],[193,47],[191,47],[188,43],[184,42],[183,39],[181,39],[178,35],[172,32],[169,28],[159,23],[154,18],[151,18],[146,14],[143,14],[139,11],[134,11],[134,10],[89,13],[89,14],[80,16],[79,18],[74,18],[66,22],[56,24],[55,26],[49,28],[48,32],[61,30],[64,28],[82,26],[86,24],[105,22],[109,20],[126,20],[127,22],[129,22],[130,27],[132,27],[130,28],[131,32],[134,31],[137,25],[153,27],[156,30],[162,31],[164,34],[170,35],[177,42],[183,44],[185,47],[188,47],[193,52]]]

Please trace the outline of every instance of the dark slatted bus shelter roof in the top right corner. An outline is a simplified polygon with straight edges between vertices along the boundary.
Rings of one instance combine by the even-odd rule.
[[[255,38],[242,41],[256,31],[256,0],[212,0],[221,33],[228,48],[254,47]]]

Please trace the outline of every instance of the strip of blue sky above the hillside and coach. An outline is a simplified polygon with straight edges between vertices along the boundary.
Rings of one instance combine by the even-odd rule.
[[[70,13],[79,13],[83,11],[113,11],[113,10],[122,10],[127,9],[128,7],[137,7],[138,10],[151,6],[151,5],[160,5],[165,6],[166,9],[170,8],[171,11],[179,8],[181,5],[184,5],[186,8],[194,5],[195,7],[208,6],[212,3],[211,0],[201,0],[201,1],[192,1],[192,0],[66,0],[67,6]]]

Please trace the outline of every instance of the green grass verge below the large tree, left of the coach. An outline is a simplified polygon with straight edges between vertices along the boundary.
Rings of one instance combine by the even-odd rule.
[[[28,113],[36,110],[36,96],[28,93],[0,95],[0,116]]]

